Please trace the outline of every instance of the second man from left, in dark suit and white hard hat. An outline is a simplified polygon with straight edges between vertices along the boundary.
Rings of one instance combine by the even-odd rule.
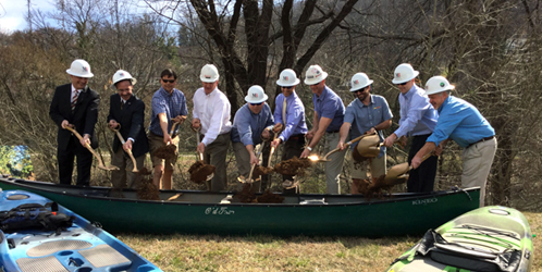
[[[137,169],[143,168],[146,153],[149,151],[149,141],[143,126],[145,103],[132,94],[136,82],[128,72],[123,70],[116,71],[113,75],[113,86],[119,94],[111,96],[108,122],[110,128],[120,128],[122,138],[126,140],[122,144],[116,136],[113,140],[111,162],[120,169],[111,174],[111,182],[115,188],[126,187],[127,182],[127,187],[135,189],[143,177],[132,172],[134,163],[126,151],[132,150]]]

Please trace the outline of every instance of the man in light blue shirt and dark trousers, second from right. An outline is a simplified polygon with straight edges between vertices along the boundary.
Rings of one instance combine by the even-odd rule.
[[[426,140],[433,133],[436,126],[439,114],[433,106],[429,103],[426,91],[416,85],[416,77],[420,73],[415,71],[408,63],[399,64],[394,72],[393,84],[401,91],[401,120],[399,127],[384,140],[384,146],[392,147],[393,143],[399,139],[403,146],[406,145],[407,137],[412,137],[410,151],[408,152],[408,163],[420,150]],[[436,175],[438,158],[432,156],[421,165],[409,172],[407,181],[408,193],[432,191],[434,177]]]

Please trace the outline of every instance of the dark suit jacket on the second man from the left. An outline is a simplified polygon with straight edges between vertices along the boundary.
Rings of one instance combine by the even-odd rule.
[[[149,141],[145,134],[145,103],[135,95],[126,101],[121,110],[121,96],[114,94],[111,96],[109,103],[108,123],[111,120],[121,124],[121,135],[124,140],[133,138],[135,140],[132,146],[132,153],[135,158],[145,154],[149,151]],[[116,135],[113,139],[113,152],[122,148],[121,140]]]

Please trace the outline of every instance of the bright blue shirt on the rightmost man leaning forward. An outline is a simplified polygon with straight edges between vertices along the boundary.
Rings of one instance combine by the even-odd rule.
[[[451,138],[460,147],[467,148],[494,135],[495,129],[475,106],[460,98],[448,96],[439,108],[439,122],[427,141],[439,146],[441,141]]]

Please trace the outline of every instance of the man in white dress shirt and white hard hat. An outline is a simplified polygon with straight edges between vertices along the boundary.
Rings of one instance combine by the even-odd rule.
[[[202,88],[194,94],[194,111],[192,127],[199,131],[202,140],[197,151],[204,153],[206,162],[214,165],[217,171],[211,180],[211,191],[225,190],[227,188],[226,164],[227,146],[230,145],[230,132],[232,122],[230,100],[219,86],[219,71],[212,64],[206,64],[199,75]]]

